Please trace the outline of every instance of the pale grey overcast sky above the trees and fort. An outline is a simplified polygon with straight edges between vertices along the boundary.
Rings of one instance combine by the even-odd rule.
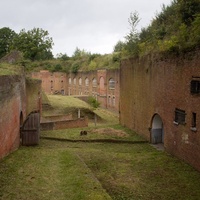
[[[76,47],[111,53],[129,32],[128,18],[137,11],[138,30],[147,27],[171,0],[0,0],[0,28],[16,33],[42,28],[53,38],[53,54],[71,56]]]

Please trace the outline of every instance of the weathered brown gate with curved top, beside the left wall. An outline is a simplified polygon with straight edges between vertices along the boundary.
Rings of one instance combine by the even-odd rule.
[[[39,144],[40,113],[31,112],[21,127],[22,145],[32,146]]]

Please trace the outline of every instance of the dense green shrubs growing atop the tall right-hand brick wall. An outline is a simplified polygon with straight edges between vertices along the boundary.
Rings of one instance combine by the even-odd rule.
[[[163,5],[147,28],[136,31],[138,13],[129,18],[130,33],[122,56],[142,56],[152,52],[187,52],[200,44],[200,0],[174,0]],[[116,44],[118,47],[118,43]],[[119,48],[117,48],[119,49]],[[115,51],[115,49],[114,49]]]

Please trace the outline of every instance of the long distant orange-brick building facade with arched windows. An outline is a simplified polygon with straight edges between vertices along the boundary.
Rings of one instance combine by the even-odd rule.
[[[76,74],[42,70],[32,73],[32,77],[42,80],[42,88],[47,94],[94,96],[102,107],[119,111],[119,70]]]

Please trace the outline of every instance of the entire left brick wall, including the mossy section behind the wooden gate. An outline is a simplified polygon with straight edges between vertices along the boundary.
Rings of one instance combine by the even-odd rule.
[[[41,81],[25,75],[0,76],[0,158],[20,145],[20,127],[26,116],[41,109]]]

